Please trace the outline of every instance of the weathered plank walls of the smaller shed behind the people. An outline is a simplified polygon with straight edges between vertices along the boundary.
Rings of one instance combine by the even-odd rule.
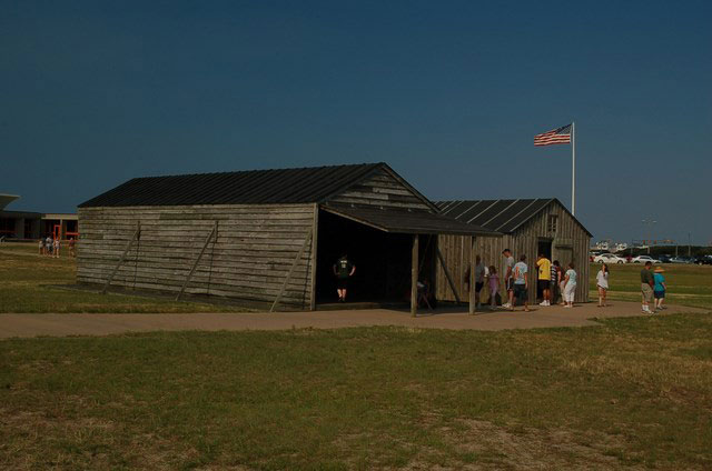
[[[548,216],[558,218],[556,232],[550,232],[547,228]],[[540,240],[552,240],[552,261],[558,260],[562,267],[566,267],[572,260],[576,265],[578,283],[576,285],[576,302],[589,301],[589,248],[591,238],[585,230],[566,212],[557,202],[552,202],[524,226],[512,234],[503,237],[478,237],[475,239],[476,254],[490,267],[495,265],[500,275],[500,292],[504,290],[504,257],[502,251],[512,250],[515,261],[521,254],[525,254],[530,268],[530,302],[536,299],[536,255]],[[464,274],[469,260],[469,238],[462,236],[439,236],[438,248],[443,259],[457,287],[461,299],[466,299]],[[436,297],[442,301],[455,301],[455,297],[447,283],[441,264],[436,272]],[[482,299],[490,298],[487,285],[482,291]]]

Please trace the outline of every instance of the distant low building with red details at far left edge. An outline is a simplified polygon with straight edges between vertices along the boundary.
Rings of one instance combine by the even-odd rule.
[[[19,198],[0,193],[0,238],[39,239],[50,236],[68,239],[79,236],[77,214],[7,211],[6,207]]]

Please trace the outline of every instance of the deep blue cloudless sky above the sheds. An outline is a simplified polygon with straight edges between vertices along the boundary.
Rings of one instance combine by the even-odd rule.
[[[712,2],[0,1],[0,192],[388,162],[431,199],[571,200],[712,240]],[[644,227],[643,219],[656,224]]]

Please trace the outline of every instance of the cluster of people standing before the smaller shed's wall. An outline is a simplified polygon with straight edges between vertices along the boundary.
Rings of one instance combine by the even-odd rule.
[[[502,271],[504,292],[506,294],[506,301],[503,300],[502,308],[513,311],[515,305],[523,305],[524,311],[528,312],[530,281],[526,255],[520,255],[517,262],[514,261],[510,249],[504,249],[502,255],[504,257]],[[469,270],[465,273],[465,283],[467,285],[469,284],[468,280]],[[538,254],[536,259],[536,289],[542,293],[543,299],[540,305],[556,304],[556,300],[561,294],[561,304],[565,308],[573,308],[576,280],[577,273],[573,262],[568,263],[564,270],[558,260],[552,262],[543,253]],[[475,302],[478,308],[482,305],[479,294],[485,282],[490,288],[490,307],[495,308],[497,305],[496,297],[500,291],[500,281],[496,268],[494,265],[485,268],[481,257],[477,255],[475,258]]]

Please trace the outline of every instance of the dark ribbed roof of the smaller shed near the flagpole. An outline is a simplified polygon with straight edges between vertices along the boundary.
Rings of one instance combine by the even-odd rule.
[[[461,222],[481,226],[487,230],[512,233],[526,221],[542,211],[552,202],[561,204],[556,198],[526,199],[526,200],[464,200],[464,201],[437,201],[435,206],[441,214],[454,218]],[[566,207],[561,204],[566,212]],[[568,212],[584,231],[591,232]]]

